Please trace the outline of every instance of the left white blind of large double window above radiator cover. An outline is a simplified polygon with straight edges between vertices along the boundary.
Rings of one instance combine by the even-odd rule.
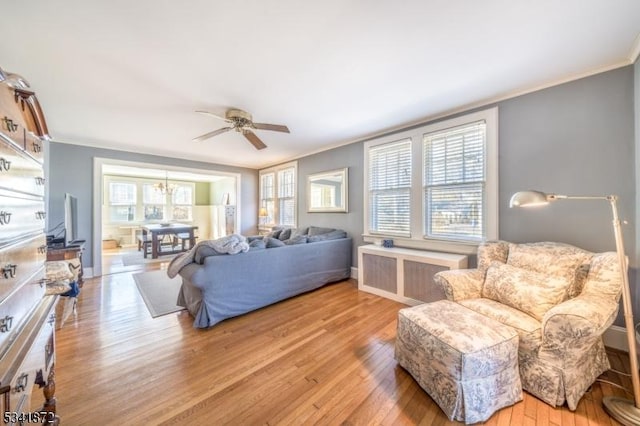
[[[411,140],[369,148],[369,232],[410,236]]]

